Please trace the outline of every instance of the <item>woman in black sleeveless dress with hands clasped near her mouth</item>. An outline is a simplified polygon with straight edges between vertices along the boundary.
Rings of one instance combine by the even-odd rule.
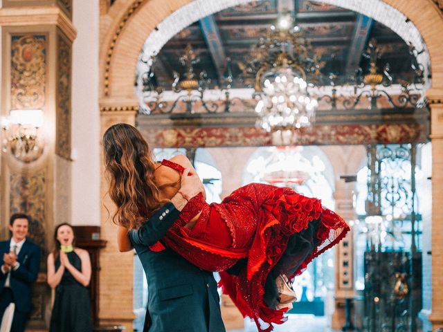
[[[87,286],[91,260],[86,250],[75,248],[71,225],[57,225],[55,250],[48,255],[48,284],[55,288],[50,332],[91,332],[91,304]]]

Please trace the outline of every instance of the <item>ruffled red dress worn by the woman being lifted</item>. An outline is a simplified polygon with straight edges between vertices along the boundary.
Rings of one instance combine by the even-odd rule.
[[[161,163],[183,172],[170,160]],[[184,228],[200,211],[195,227]],[[287,187],[251,183],[221,203],[208,204],[202,194],[195,196],[151,249],[163,250],[164,244],[199,268],[221,271],[224,293],[260,331],[271,331],[270,323],[284,322],[287,308],[275,310],[266,304],[266,278],[272,272],[273,278],[284,273],[293,279],[348,230],[345,221],[322,208],[318,199]],[[266,327],[260,326],[259,318]]]

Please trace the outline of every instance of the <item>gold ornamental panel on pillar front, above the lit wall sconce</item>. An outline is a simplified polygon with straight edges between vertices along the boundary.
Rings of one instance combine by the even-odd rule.
[[[46,35],[11,36],[11,109],[44,107],[46,52]]]

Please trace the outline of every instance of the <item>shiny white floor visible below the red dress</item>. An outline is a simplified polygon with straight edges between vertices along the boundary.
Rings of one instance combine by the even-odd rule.
[[[328,326],[327,317],[314,315],[289,315],[288,321],[282,325],[275,325],[274,332],[334,332]],[[257,332],[254,322],[246,319],[244,329],[228,330],[228,332]]]

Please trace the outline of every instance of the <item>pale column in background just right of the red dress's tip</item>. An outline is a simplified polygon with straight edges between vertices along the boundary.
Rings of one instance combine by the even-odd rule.
[[[349,223],[355,219],[352,205],[354,183],[338,180],[335,183],[334,198],[336,212]],[[345,324],[345,299],[354,297],[354,245],[352,229],[345,239],[335,247],[335,311],[332,315],[332,329],[341,330]]]

